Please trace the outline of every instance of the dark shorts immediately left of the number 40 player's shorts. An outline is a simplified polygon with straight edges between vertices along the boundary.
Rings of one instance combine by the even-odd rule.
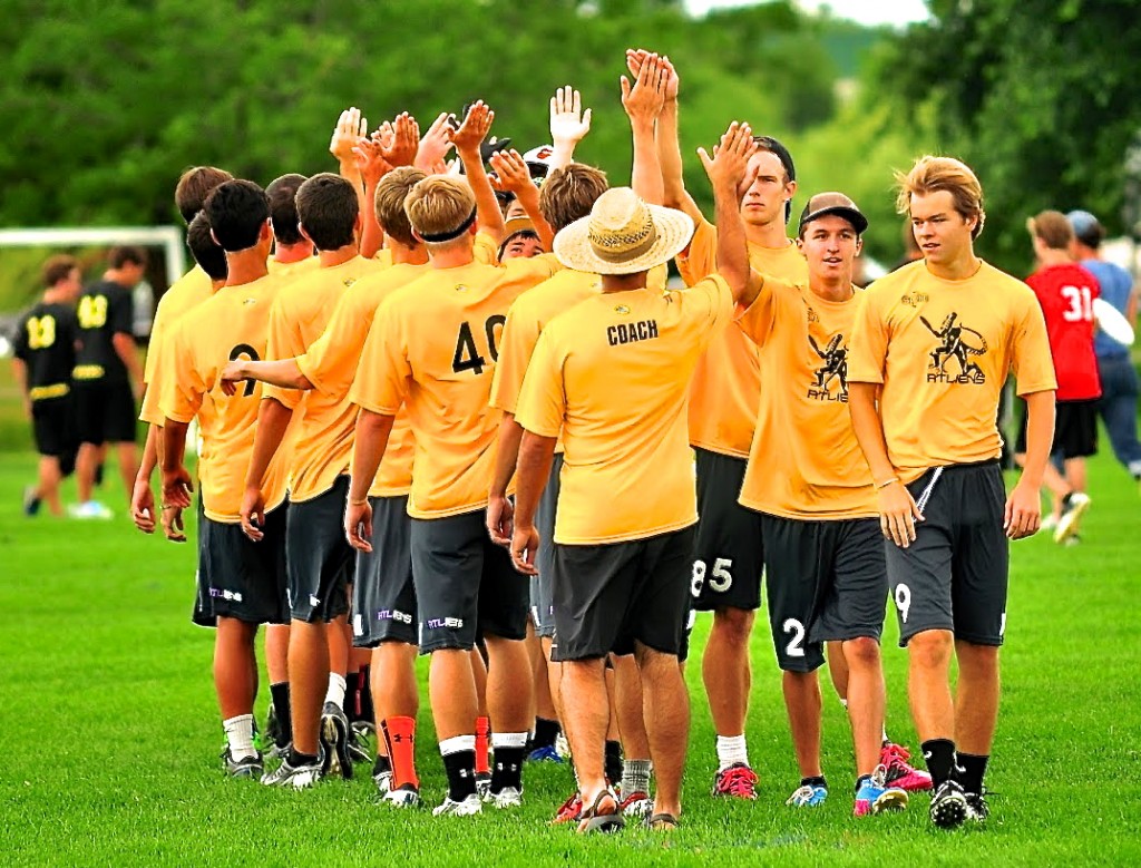
[[[353,644],[416,643],[416,590],[412,584],[408,496],[370,497],[371,552],[357,554],[353,583]]]

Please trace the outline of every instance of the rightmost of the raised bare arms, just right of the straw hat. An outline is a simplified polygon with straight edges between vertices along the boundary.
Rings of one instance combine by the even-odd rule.
[[[729,124],[721,143],[713,148],[713,156],[703,147],[697,149],[705,173],[713,185],[718,225],[717,270],[729,284],[734,300],[745,307],[756,299],[760,285],[752,279],[737,190],[745,179],[748,160],[754,153],[756,144],[753,141],[752,129],[747,123],[738,124],[736,121]]]

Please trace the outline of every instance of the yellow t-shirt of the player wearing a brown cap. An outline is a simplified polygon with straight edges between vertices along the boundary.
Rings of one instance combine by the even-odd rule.
[[[760,347],[766,384],[739,501],[793,519],[879,514],[848,413],[848,341],[859,294],[830,301],[766,278],[737,319]]]

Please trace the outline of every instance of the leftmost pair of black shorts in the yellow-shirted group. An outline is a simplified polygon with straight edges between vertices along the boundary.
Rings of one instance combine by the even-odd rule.
[[[216,626],[218,618],[248,624],[289,624],[285,602],[285,516],[282,504],[266,513],[265,538],[253,542],[237,522],[203,518],[199,599],[194,623]]]

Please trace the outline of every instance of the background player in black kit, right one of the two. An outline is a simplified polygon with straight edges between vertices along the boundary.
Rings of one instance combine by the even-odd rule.
[[[103,279],[80,295],[76,309],[79,349],[73,379],[80,447],[75,518],[111,518],[111,511],[91,498],[104,444],[116,447],[128,498],[138,470],[135,398],[143,383],[143,365],[131,331],[131,290],[146,270],[146,253],[139,248],[112,248],[107,266]]]

